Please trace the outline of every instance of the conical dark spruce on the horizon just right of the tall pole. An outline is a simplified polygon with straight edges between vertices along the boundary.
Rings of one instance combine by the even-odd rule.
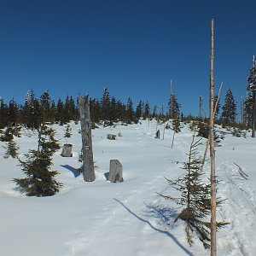
[[[221,120],[225,125],[230,125],[236,122],[236,102],[230,88],[227,90],[222,107]]]

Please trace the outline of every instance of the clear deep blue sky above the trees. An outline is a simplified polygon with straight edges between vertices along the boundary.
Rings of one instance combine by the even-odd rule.
[[[57,100],[105,87],[166,107],[172,79],[183,113],[208,111],[210,27],[214,81],[240,106],[256,54],[255,1],[0,0],[0,96],[23,103],[27,90]]]

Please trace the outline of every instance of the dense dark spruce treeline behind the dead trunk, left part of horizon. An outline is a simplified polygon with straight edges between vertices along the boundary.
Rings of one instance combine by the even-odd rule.
[[[148,102],[138,102],[133,105],[131,97],[127,102],[121,102],[114,96],[110,96],[108,89],[103,91],[101,99],[90,98],[90,119],[92,125],[101,123],[103,125],[113,125],[114,122],[121,121],[125,124],[137,123],[140,118],[158,116],[157,108],[153,113],[150,111]],[[77,99],[67,96],[65,101],[58,102],[51,100],[49,91],[46,90],[42,96],[35,96],[30,90],[24,104],[17,104],[15,99],[4,102],[0,98],[0,129],[13,125],[24,125],[27,128],[37,129],[42,123],[66,124],[69,121],[79,121],[79,108]]]

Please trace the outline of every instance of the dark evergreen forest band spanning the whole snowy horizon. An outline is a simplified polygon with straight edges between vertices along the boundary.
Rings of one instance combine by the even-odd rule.
[[[78,122],[78,105],[77,98],[73,98],[73,96],[67,96],[65,101],[62,101],[61,98],[58,102],[51,100],[48,90],[44,91],[40,97],[35,96],[33,90],[28,91],[23,105],[17,104],[15,99],[6,103],[3,98],[0,98],[0,129],[15,125],[37,129],[42,123],[64,125],[72,120]],[[207,118],[201,115],[201,97],[199,98],[198,116],[183,115],[180,112],[181,106],[173,92],[169,98],[167,112],[164,111],[163,106],[160,106],[160,108],[154,106],[152,109],[149,106],[148,101],[140,101],[137,106],[134,106],[131,97],[127,99],[127,102],[121,102],[114,96],[110,96],[108,89],[105,88],[100,99],[90,98],[92,128],[95,128],[97,124],[108,126],[118,121],[125,125],[137,124],[139,119],[153,118],[159,120],[178,119],[179,121],[199,119],[207,123]],[[242,119],[239,122],[236,120],[236,101],[230,88],[226,92],[224,106],[220,107],[218,96],[215,96],[215,106],[216,124],[239,126],[241,128],[251,127],[253,115],[252,97],[243,102],[244,109],[242,110]]]

